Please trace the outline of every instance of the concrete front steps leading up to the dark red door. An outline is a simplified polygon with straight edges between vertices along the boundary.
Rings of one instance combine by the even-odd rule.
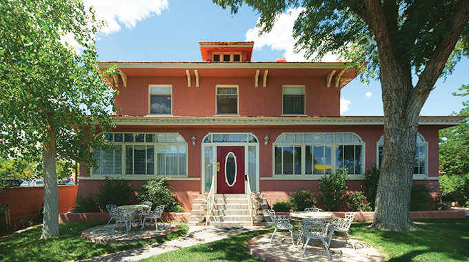
[[[194,199],[188,225],[206,225],[205,220],[198,223],[195,217],[195,214],[198,212],[206,214],[207,216],[207,210],[202,208],[202,201],[207,201],[203,194],[199,194],[197,199]],[[252,225],[248,201],[249,199],[247,194],[215,194],[215,201],[212,212],[208,218],[208,225]],[[266,199],[263,199],[260,196],[259,199],[254,200],[254,203],[260,203],[261,208],[259,210],[252,210],[252,214],[257,214],[259,212],[264,214],[264,220],[261,222],[254,222],[254,225],[268,226],[272,224],[272,220],[267,212],[268,204]]]

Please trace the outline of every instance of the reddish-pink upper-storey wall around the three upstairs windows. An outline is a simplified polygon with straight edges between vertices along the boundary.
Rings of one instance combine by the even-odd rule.
[[[174,116],[206,117],[216,114],[216,85],[239,85],[239,115],[279,117],[282,85],[306,85],[308,116],[339,117],[340,88],[327,88],[324,77],[269,77],[266,88],[254,87],[254,77],[201,77],[200,87],[188,88],[186,77],[128,77],[128,87],[117,88],[118,115],[148,114],[148,85],[172,85]]]

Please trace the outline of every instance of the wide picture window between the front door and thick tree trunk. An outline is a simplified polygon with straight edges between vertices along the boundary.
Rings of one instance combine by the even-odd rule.
[[[363,174],[365,143],[353,133],[286,133],[277,137],[275,175]]]

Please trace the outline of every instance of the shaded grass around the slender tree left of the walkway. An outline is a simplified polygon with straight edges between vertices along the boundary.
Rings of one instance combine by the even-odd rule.
[[[157,239],[134,243],[94,243],[79,238],[81,232],[106,221],[59,224],[60,236],[48,239],[41,238],[42,226],[37,226],[25,232],[8,236],[0,242],[0,261],[74,261],[88,259],[101,254],[110,254],[132,248],[141,248],[153,243],[163,243],[177,239],[188,232],[188,226],[179,223],[178,230]]]

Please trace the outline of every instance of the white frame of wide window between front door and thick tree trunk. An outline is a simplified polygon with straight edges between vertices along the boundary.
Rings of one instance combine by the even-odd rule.
[[[304,140],[304,135],[305,134],[334,134],[334,137],[336,134],[342,134],[342,137],[344,134],[347,135],[352,135],[352,141],[351,142],[321,142],[321,143],[315,143],[315,142],[305,142]],[[294,141],[283,141],[279,142],[279,138],[284,136],[286,138],[287,135],[292,135],[295,137],[295,135],[303,135],[303,141],[296,141],[296,138]],[[357,137],[359,141],[353,141],[354,137]],[[275,174],[275,146],[276,145],[301,145],[301,174]],[[311,132],[311,133],[282,133],[275,139],[275,142],[272,143],[272,178],[262,178],[262,180],[278,180],[278,179],[290,179],[290,180],[319,180],[321,177],[324,176],[324,174],[306,174],[306,145],[332,145],[332,167],[335,167],[336,165],[336,146],[337,145],[361,145],[361,174],[349,174],[349,179],[350,180],[361,180],[364,178],[363,174],[365,172],[365,161],[366,161],[366,145],[365,142],[363,142],[363,139],[361,137],[354,133],[354,132]]]

